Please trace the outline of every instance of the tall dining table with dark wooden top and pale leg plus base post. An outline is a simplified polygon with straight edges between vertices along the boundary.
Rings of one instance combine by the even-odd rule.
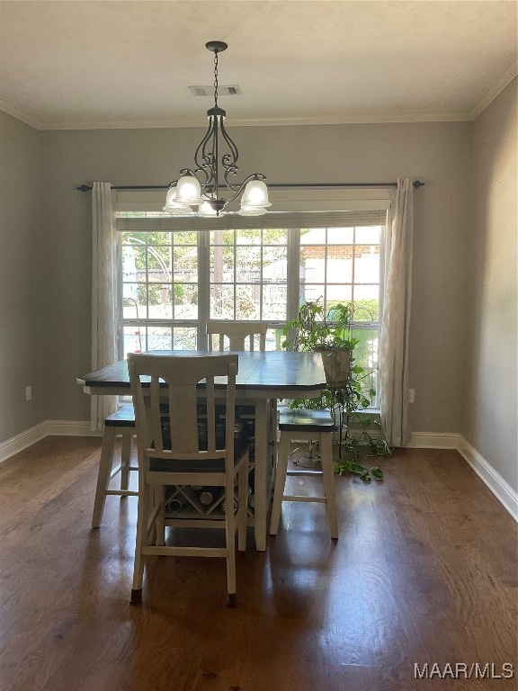
[[[250,524],[254,526],[255,548],[266,549],[267,514],[276,467],[277,402],[280,399],[317,398],[326,388],[326,374],[319,353],[292,351],[231,351],[238,355],[236,393],[254,408],[255,418],[255,506]],[[153,350],[156,357],[217,356],[200,350]],[[77,377],[89,395],[130,396],[127,361],[103,367]],[[218,380],[216,380],[218,384]],[[224,383],[221,382],[221,386]]]

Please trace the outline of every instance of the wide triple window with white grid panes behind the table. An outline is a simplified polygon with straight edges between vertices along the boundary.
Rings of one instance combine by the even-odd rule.
[[[326,310],[345,302],[354,306],[356,359],[377,389],[388,202],[371,203],[358,211],[228,215],[218,228],[214,220],[119,211],[121,357],[203,348],[207,319],[268,321],[267,348],[279,349],[301,301],[319,300]]]

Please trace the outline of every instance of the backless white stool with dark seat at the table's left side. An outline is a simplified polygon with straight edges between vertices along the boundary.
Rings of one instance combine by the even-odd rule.
[[[133,436],[135,435],[135,415],[133,406],[122,406],[104,420],[103,446],[97,473],[95,489],[94,514],[92,527],[98,528],[103,521],[106,497],[136,497],[138,492],[129,489],[129,471],[138,471],[136,465],[131,465]],[[121,436],[121,462],[113,465],[115,456],[115,439]],[[110,489],[110,482],[121,473],[121,489]]]

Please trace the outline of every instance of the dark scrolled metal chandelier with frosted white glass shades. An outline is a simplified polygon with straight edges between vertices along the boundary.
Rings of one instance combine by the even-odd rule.
[[[164,211],[174,216],[191,214],[220,216],[228,202],[241,195],[241,216],[261,216],[271,206],[268,190],[261,173],[248,175],[243,182],[237,177],[239,152],[230,139],[223,121],[227,113],[218,105],[218,54],[228,48],[227,43],[210,40],[205,48],[214,53],[214,106],[207,111],[209,128],[194,154],[195,167],[183,168],[181,177],[169,184]]]

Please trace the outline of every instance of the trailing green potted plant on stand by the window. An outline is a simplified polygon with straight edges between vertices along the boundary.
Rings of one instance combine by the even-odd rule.
[[[374,434],[380,422],[364,412],[376,391],[367,383],[369,372],[354,362],[354,348],[359,340],[351,334],[352,318],[351,305],[339,303],[325,311],[320,301],[303,302],[297,317],[284,328],[282,347],[322,354],[327,389],[317,399],[293,400],[290,407],[331,410],[339,435],[335,470],[353,472],[370,482],[371,476],[382,480],[383,472],[379,466],[365,467],[360,459],[366,453],[387,456],[392,447]]]

